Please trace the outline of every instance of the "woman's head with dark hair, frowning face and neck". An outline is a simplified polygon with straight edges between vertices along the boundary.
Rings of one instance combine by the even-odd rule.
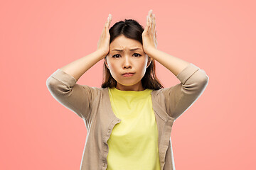
[[[161,89],[156,78],[155,61],[142,47],[144,28],[132,19],[119,21],[110,28],[110,52],[105,57],[102,88]],[[132,49],[137,50],[132,50]],[[122,50],[122,51],[119,51]],[[125,77],[124,73],[132,72]]]

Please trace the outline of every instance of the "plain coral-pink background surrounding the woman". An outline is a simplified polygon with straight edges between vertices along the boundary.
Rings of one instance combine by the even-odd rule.
[[[46,79],[97,49],[110,26],[156,15],[158,49],[204,69],[206,91],[174,123],[177,170],[256,169],[254,1],[1,1],[0,169],[79,169],[86,128]],[[103,60],[78,80],[100,87]],[[165,87],[180,81],[156,62]],[[253,98],[252,98],[253,97]]]

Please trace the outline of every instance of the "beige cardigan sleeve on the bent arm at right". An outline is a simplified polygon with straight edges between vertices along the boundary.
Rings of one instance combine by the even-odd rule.
[[[167,113],[176,120],[203,94],[209,77],[203,69],[190,63],[176,76],[181,83],[162,89]]]

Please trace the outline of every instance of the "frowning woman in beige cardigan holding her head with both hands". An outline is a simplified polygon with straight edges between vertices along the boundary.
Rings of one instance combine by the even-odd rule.
[[[175,169],[171,128],[208,84],[203,69],[156,49],[155,16],[144,29],[125,20],[110,28],[107,18],[97,50],[57,69],[46,84],[53,97],[85,121],[87,136],[80,169]],[[105,59],[102,87],[76,84]],[[180,81],[164,88],[155,62]]]

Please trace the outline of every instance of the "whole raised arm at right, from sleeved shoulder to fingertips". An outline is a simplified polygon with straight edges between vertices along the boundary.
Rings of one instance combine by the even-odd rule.
[[[160,96],[164,95],[167,114],[176,120],[201,96],[209,77],[196,65],[157,50],[155,27],[155,16],[150,10],[142,33],[143,48],[146,55],[164,65],[181,81],[176,86],[159,90]]]

